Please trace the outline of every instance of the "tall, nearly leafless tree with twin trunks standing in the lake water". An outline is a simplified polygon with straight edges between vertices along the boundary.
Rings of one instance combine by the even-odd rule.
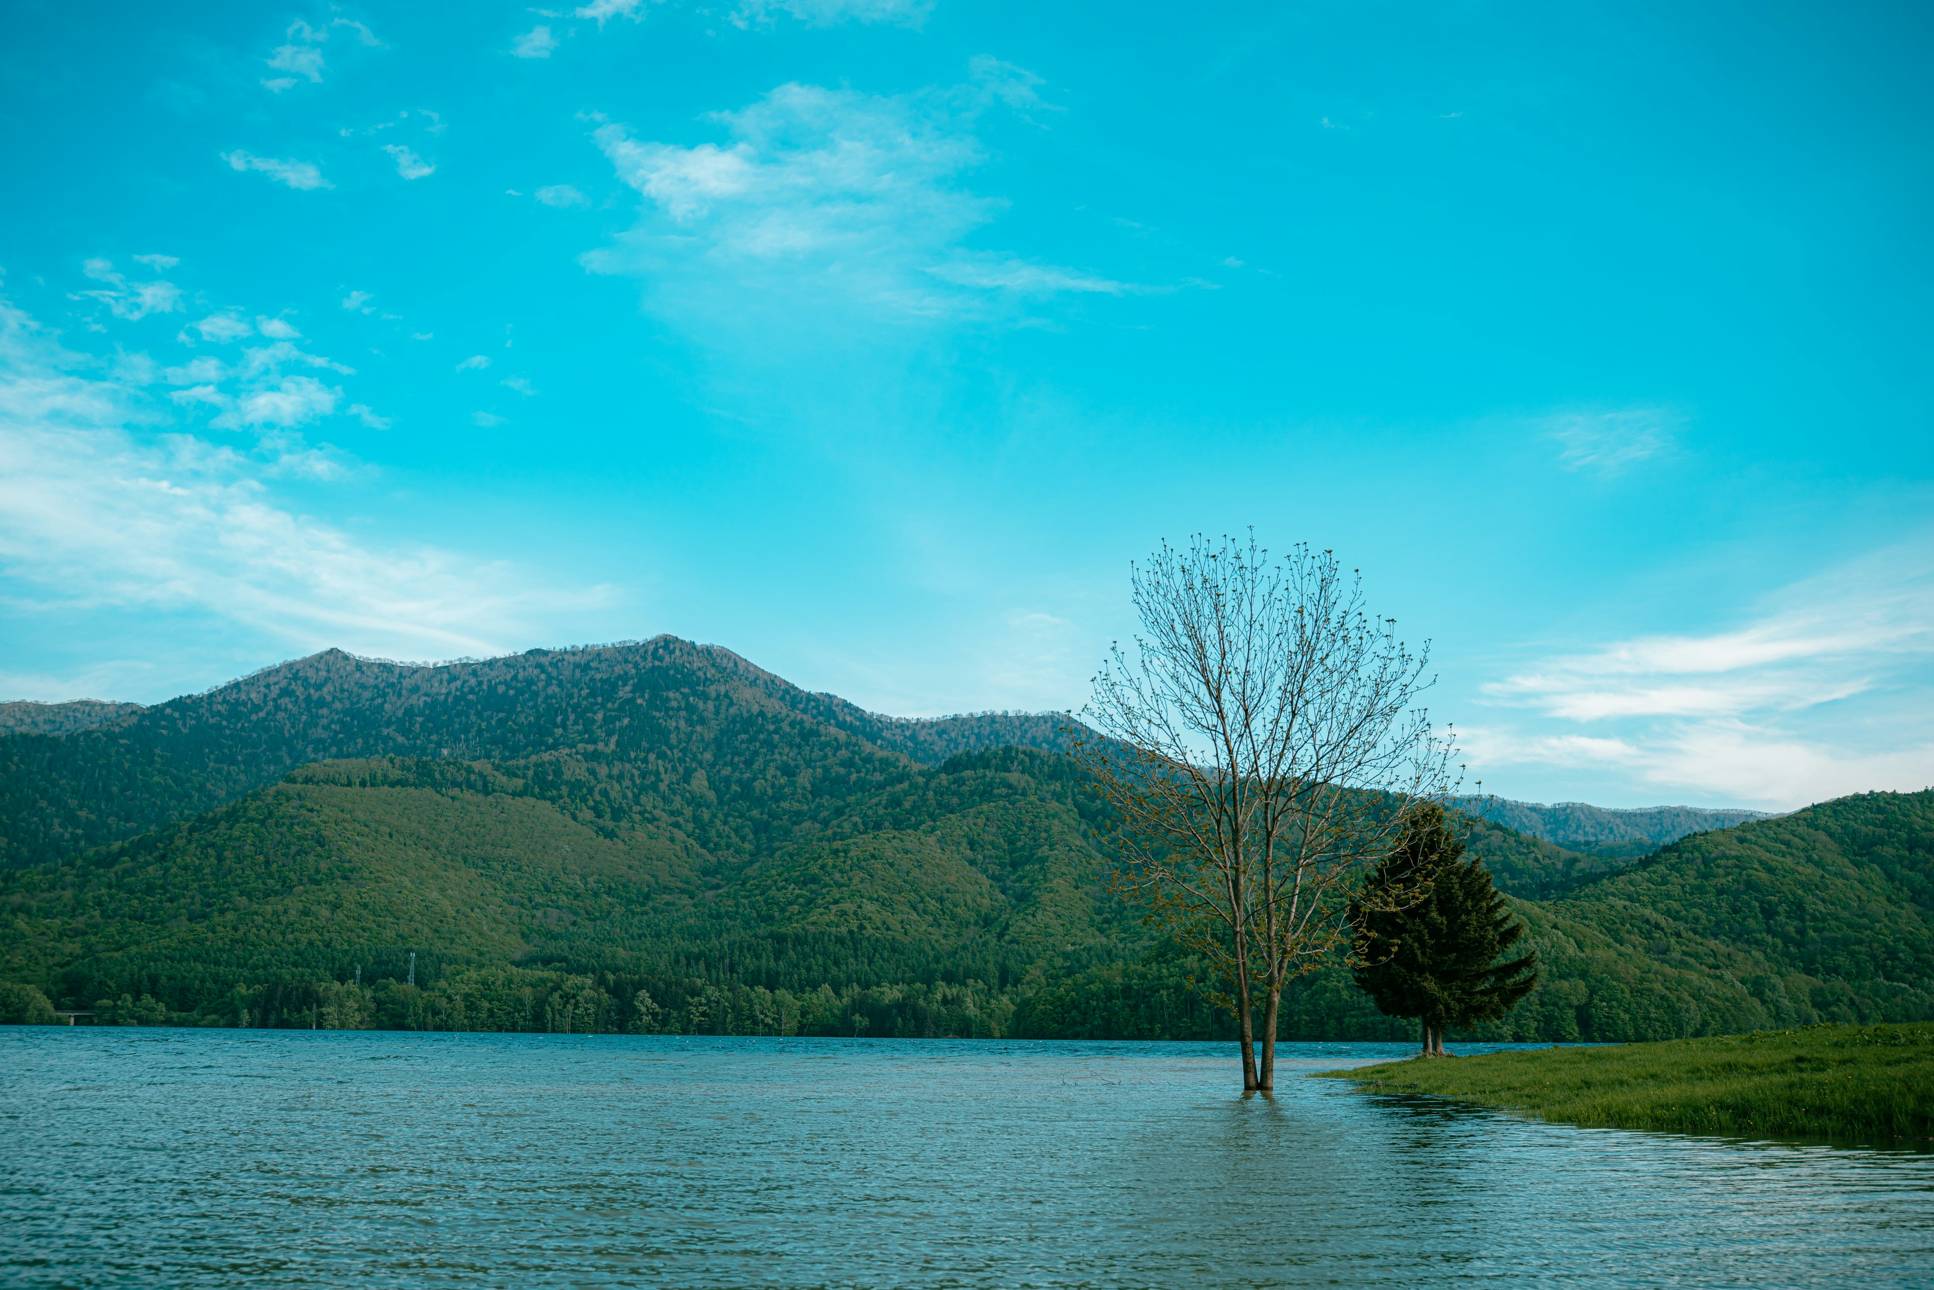
[[[1450,789],[1449,735],[1418,708],[1429,644],[1369,615],[1333,553],[1271,561],[1253,534],[1162,543],[1131,586],[1143,634],[1095,677],[1100,737],[1075,758],[1118,818],[1116,890],[1216,969],[1242,1087],[1269,1091],[1282,988],[1348,946],[1352,878]]]

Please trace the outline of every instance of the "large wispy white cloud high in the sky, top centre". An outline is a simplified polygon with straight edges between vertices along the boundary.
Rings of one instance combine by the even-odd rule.
[[[714,114],[723,141],[644,141],[600,126],[598,145],[646,205],[619,246],[584,263],[650,280],[650,300],[667,311],[721,323],[801,304],[909,319],[1129,290],[963,246],[1004,207],[961,186],[984,159],[975,122],[994,103],[1039,104],[1037,85],[1019,68],[975,60],[965,85],[915,95],[779,85]]]

